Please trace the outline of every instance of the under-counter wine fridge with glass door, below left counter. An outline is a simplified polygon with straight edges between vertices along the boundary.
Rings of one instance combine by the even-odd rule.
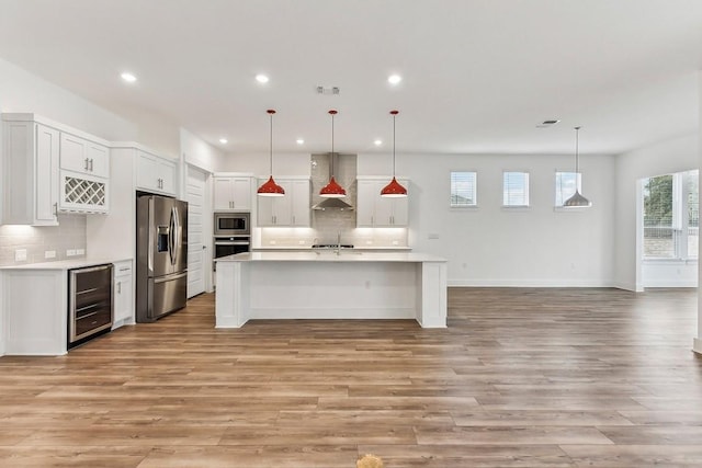
[[[68,347],[112,328],[112,264],[68,271]]]

